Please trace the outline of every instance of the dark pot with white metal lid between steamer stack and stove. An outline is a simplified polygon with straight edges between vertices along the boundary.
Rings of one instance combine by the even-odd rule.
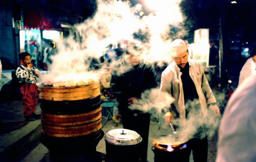
[[[105,134],[108,161],[140,161],[142,137],[129,129],[113,129]]]

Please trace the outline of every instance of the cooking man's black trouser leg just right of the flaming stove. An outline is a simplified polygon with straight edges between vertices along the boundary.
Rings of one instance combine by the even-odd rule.
[[[207,136],[199,139],[193,138],[188,142],[188,148],[190,149],[189,155],[192,151],[194,162],[206,162],[208,156],[208,140]]]

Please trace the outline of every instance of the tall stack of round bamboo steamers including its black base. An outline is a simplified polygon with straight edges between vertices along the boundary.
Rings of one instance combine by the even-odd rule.
[[[41,142],[50,154],[96,152],[96,146],[104,135],[101,130],[99,83],[75,87],[41,84],[38,90]]]

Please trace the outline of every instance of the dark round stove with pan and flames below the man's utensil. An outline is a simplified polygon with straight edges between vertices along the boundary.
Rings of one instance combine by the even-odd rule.
[[[190,151],[187,138],[180,132],[161,135],[154,139],[152,150],[157,161],[189,161]]]

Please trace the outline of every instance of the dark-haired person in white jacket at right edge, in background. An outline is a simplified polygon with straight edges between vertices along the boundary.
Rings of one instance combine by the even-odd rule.
[[[256,74],[256,48],[252,49],[249,54],[250,58],[245,62],[240,72],[238,86],[240,86],[246,78]]]

